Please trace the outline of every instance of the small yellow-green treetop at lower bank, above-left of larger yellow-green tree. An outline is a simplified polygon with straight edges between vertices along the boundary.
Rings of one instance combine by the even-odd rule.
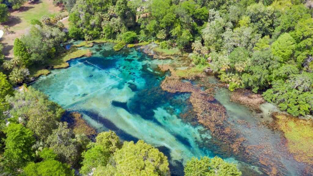
[[[114,153],[117,149],[121,148],[119,137],[114,131],[100,132],[96,137],[96,144],[103,146],[106,150]]]

